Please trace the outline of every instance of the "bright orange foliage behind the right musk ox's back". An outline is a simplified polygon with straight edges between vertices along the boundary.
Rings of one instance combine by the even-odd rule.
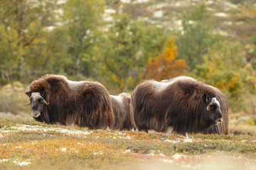
[[[177,47],[174,45],[174,40],[169,40],[163,54],[155,58],[149,58],[145,78],[160,81],[186,74],[186,62],[175,60],[176,55]]]

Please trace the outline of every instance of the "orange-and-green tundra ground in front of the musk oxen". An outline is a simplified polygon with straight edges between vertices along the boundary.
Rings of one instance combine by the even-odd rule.
[[[255,135],[87,130],[0,120],[0,169],[255,169]]]

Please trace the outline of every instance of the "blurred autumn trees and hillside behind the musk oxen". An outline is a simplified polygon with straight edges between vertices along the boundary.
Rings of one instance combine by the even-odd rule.
[[[255,0],[0,0],[0,118],[32,119],[44,74],[110,94],[187,75],[228,98],[231,134],[255,135],[255,69]]]

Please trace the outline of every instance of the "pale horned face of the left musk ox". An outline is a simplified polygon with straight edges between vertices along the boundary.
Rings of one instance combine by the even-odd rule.
[[[43,91],[41,93],[31,93],[30,91],[28,91],[26,92],[26,94],[28,95],[30,100],[30,102],[26,105],[31,105],[31,115],[33,115],[33,118],[39,118],[43,113],[43,108],[46,107],[46,105],[49,105],[49,103],[47,103],[44,99],[46,98],[46,91]]]

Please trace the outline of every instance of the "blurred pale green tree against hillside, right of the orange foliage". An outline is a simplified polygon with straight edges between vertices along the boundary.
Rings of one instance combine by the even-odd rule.
[[[203,55],[208,53],[208,47],[218,41],[218,35],[210,34],[210,13],[206,5],[196,6],[192,13],[183,16],[183,30],[176,45],[178,58],[186,60],[190,70],[196,64],[203,62]]]

